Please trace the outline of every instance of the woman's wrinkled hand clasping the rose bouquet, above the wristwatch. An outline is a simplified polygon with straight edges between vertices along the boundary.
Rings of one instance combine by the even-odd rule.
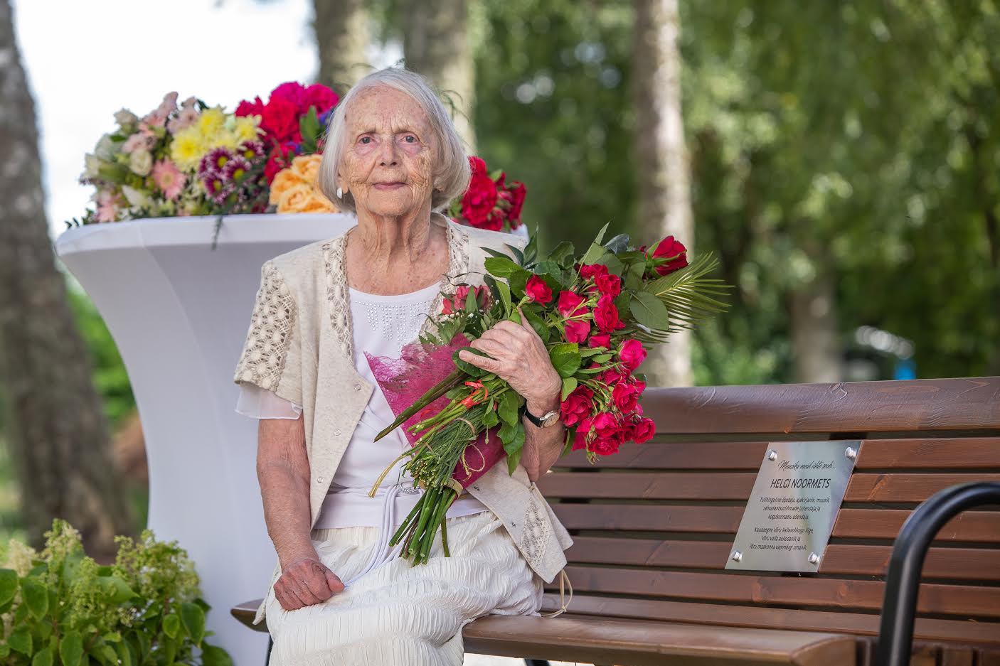
[[[521,312],[518,308],[518,312]],[[487,372],[492,372],[521,394],[533,414],[538,410],[557,409],[562,378],[549,360],[548,350],[535,329],[521,312],[521,323],[501,321],[469,346],[489,354],[486,358],[463,350],[458,357]]]

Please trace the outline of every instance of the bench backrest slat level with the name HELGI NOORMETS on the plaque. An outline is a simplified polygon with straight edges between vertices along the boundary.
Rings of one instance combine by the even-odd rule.
[[[551,497],[661,500],[746,500],[756,474],[741,472],[592,472],[546,474],[538,481]],[[1000,474],[854,474],[845,502],[922,502],[939,490],[969,481],[1000,481]]]

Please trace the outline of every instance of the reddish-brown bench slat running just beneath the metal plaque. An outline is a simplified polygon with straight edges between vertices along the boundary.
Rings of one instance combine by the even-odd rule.
[[[566,567],[579,592],[728,601],[740,604],[878,610],[885,585],[873,580],[650,571],[614,567]],[[920,613],[1000,618],[1000,588],[972,585],[920,586]]]

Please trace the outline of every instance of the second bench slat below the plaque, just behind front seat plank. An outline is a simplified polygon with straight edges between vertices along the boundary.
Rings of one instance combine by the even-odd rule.
[[[546,594],[542,608],[547,611],[559,608],[559,595]],[[570,609],[571,616],[597,615],[733,627],[842,631],[862,636],[876,636],[879,630],[877,613],[732,606],[662,599],[623,599],[588,594],[574,594]],[[1000,622],[918,617],[914,625],[914,638],[1000,646]]]

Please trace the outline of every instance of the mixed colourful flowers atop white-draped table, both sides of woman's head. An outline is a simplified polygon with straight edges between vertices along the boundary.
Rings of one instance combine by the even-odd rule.
[[[316,176],[325,128],[340,101],[330,88],[283,83],[265,103],[241,101],[227,113],[195,97],[178,106],[176,92],[139,117],[122,109],[117,128],[86,155],[80,183],[93,185],[91,224],[143,217],[238,213],[329,213],[337,206]],[[505,183],[469,159],[472,181],[448,214],[456,222],[494,231],[521,226],[523,183]]]

